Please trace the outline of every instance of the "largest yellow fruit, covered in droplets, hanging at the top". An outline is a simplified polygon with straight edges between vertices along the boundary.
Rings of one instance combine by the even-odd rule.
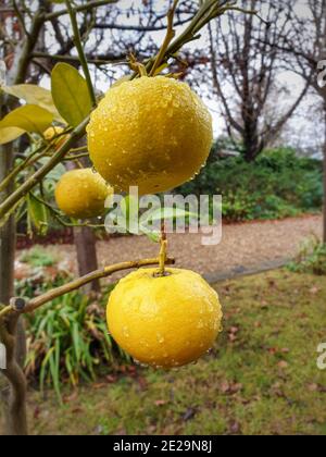
[[[185,83],[141,77],[111,88],[87,127],[97,171],[121,192],[166,192],[191,180],[213,141],[212,118]]]

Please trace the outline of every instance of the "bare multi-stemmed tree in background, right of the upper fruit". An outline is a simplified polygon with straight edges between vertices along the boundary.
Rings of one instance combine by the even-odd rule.
[[[228,15],[210,25],[211,71],[228,134],[235,141],[240,139],[246,160],[253,161],[292,116],[309,84],[274,119],[265,115],[268,103],[277,103],[272,98],[281,52],[274,45],[279,45],[289,28],[292,2],[286,7],[265,0],[241,3],[247,10],[259,11],[263,20]]]

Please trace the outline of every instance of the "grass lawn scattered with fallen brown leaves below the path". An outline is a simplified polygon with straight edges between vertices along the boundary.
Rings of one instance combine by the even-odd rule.
[[[177,371],[135,367],[65,392],[29,392],[35,434],[326,434],[326,277],[285,270],[216,285],[225,329]]]

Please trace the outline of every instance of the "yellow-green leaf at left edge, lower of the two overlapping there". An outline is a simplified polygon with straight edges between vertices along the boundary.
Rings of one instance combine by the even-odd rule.
[[[25,104],[10,112],[0,121],[0,129],[17,127],[24,132],[42,133],[51,125],[53,114],[36,104]]]

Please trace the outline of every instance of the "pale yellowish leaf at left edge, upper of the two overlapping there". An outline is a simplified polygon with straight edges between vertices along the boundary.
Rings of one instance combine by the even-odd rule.
[[[18,84],[16,86],[3,86],[1,89],[13,97],[25,100],[28,104],[37,104],[50,111],[55,121],[62,122],[63,119],[59,114],[52,99],[50,90],[34,84]]]

